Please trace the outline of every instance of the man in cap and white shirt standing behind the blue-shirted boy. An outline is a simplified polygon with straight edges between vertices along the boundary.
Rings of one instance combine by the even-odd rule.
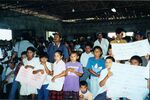
[[[103,38],[103,33],[97,33],[97,40],[94,42],[94,47],[100,46],[103,50],[102,57],[105,57],[107,55],[109,42],[107,39]]]

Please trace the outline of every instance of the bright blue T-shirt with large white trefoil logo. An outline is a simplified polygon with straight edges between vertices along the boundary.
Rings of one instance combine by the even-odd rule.
[[[86,66],[88,69],[92,69],[97,74],[100,74],[101,71],[105,68],[104,59],[95,59],[95,57],[90,57]],[[93,74],[92,74],[93,75]]]

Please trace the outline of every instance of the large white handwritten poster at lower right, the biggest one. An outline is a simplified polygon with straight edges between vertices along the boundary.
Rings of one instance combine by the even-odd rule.
[[[106,82],[107,96],[143,100],[148,94],[145,67],[113,63],[113,75]]]

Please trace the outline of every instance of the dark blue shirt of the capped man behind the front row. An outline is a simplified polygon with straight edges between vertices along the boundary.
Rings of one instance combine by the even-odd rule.
[[[69,58],[68,49],[64,44],[61,43],[60,46],[58,47],[54,43],[51,43],[48,47],[48,50],[47,50],[47,54],[49,56],[49,61],[51,63],[54,62],[54,54],[55,54],[55,51],[57,51],[57,50],[62,51],[64,59]]]

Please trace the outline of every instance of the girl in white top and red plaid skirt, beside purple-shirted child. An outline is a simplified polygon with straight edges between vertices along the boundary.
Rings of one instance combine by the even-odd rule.
[[[65,63],[62,60],[63,54],[57,50],[54,55],[53,78],[50,78],[48,90],[50,90],[50,100],[63,100],[63,84],[65,76]]]

